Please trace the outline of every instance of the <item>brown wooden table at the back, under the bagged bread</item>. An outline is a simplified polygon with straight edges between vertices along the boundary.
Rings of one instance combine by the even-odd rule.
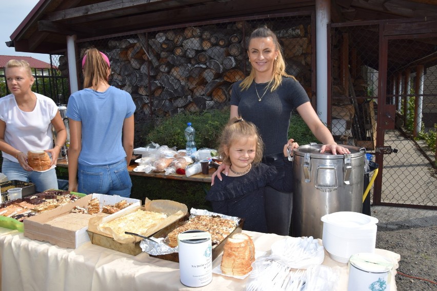
[[[62,168],[68,168],[68,161],[65,158],[58,158],[57,160],[57,167]],[[145,172],[134,172],[133,169],[137,166],[136,163],[129,165],[128,171],[129,175],[131,176],[142,176],[142,177],[149,177],[149,178],[162,178],[162,179],[173,179],[173,180],[183,180],[183,181],[195,181],[195,182],[205,182],[205,183],[211,183],[211,175],[215,172],[214,168],[209,169],[208,175],[206,174],[195,174],[190,177],[187,177],[186,175],[179,175],[179,174],[169,174],[165,175],[165,173],[145,173]]]

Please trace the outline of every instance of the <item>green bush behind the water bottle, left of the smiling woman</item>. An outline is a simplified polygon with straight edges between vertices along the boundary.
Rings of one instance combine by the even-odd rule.
[[[196,130],[195,141],[197,149],[217,149],[218,137],[223,127],[229,120],[229,111],[212,110],[203,113],[180,113],[159,120],[147,138],[149,142],[156,142],[160,146],[166,145],[170,148],[185,149],[184,131],[187,122]]]

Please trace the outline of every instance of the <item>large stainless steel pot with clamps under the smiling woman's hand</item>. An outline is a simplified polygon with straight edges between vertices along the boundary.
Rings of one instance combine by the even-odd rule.
[[[350,154],[320,153],[322,144],[294,150],[293,237],[322,238],[322,216],[362,212],[365,149],[344,146]]]

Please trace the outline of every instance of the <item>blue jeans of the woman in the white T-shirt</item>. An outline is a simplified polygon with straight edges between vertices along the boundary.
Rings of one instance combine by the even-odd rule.
[[[50,169],[46,172],[26,171],[19,163],[3,159],[2,173],[5,174],[9,180],[34,183],[36,192],[58,189],[55,169]]]

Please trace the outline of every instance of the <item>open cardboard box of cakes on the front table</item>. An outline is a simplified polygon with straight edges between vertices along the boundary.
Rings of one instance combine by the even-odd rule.
[[[127,211],[131,207],[140,206],[141,201],[138,199],[124,198],[120,196],[104,195],[104,194],[92,194],[80,198],[74,202],[56,207],[51,211],[47,211],[36,216],[25,219],[24,222],[24,236],[41,241],[48,241],[60,247],[76,248],[81,244],[90,241],[87,234],[88,226],[83,227],[78,231],[69,231],[61,227],[45,224],[56,217],[63,216],[71,212],[74,206],[80,206],[86,208],[88,201],[92,198],[98,198],[100,200],[101,207],[107,204],[115,204],[120,200],[127,200],[133,204],[119,211],[118,213]],[[116,213],[115,213],[116,214]],[[111,214],[114,215],[114,214]],[[109,215],[109,216],[111,216]]]

